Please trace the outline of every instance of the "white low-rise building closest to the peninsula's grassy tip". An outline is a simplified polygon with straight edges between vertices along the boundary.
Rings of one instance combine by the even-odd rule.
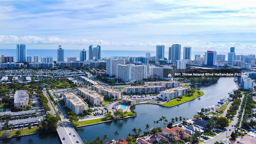
[[[166,90],[160,92],[159,98],[162,98],[162,100],[172,100],[179,96],[186,95],[188,90],[189,90],[188,87],[183,87],[183,86],[180,86],[177,88],[166,89]]]

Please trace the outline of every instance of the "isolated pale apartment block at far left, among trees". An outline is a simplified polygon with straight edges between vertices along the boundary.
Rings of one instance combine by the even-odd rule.
[[[16,90],[13,98],[14,98],[14,107],[19,108],[20,106],[28,105],[27,90]]]

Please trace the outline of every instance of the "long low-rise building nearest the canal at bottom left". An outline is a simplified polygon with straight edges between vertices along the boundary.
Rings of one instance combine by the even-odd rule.
[[[38,119],[25,118],[25,119],[18,119],[18,120],[10,120],[8,122],[8,129],[11,129],[11,124],[13,124],[12,129],[28,127],[28,124],[31,124],[32,126],[38,126]]]

